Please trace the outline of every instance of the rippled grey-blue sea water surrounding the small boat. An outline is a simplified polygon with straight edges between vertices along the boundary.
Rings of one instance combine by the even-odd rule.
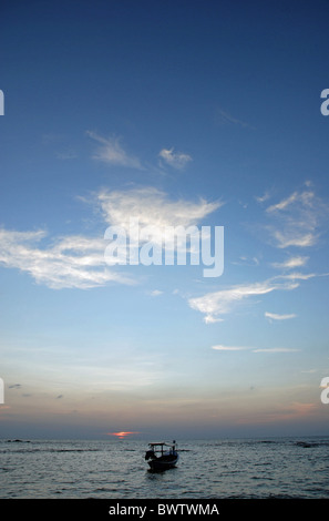
[[[147,442],[0,440],[0,494],[33,499],[328,499],[329,437],[178,440],[151,472]]]

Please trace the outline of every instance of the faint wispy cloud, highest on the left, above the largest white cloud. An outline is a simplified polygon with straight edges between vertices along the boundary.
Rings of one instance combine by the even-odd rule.
[[[86,131],[86,134],[97,143],[101,143],[92,155],[94,160],[103,161],[113,165],[143,170],[140,159],[127,154],[127,152],[121,146],[119,137],[103,137],[93,131]]]

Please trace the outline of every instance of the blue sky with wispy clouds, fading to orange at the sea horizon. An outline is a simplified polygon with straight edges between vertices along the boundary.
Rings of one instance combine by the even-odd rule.
[[[0,437],[329,435],[328,3],[0,9]]]

